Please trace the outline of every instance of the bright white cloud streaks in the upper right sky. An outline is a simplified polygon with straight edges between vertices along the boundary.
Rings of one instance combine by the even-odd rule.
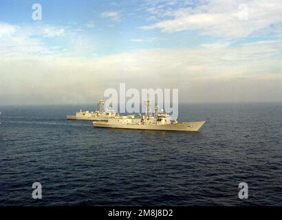
[[[197,30],[208,36],[241,38],[281,23],[282,1],[199,1],[196,6],[182,8],[149,8],[161,21],[144,25],[143,30],[160,29],[162,32]]]

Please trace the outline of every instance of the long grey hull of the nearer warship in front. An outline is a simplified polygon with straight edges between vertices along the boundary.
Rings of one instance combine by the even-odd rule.
[[[109,124],[108,122],[93,122],[94,127],[112,129],[140,129],[160,131],[199,131],[205,122],[183,122],[176,124]]]

